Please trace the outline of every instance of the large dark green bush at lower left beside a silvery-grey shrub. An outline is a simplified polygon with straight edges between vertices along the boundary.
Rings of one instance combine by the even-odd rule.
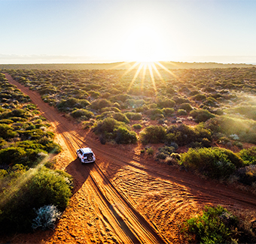
[[[3,193],[0,206],[1,233],[32,230],[32,220],[36,218],[34,209],[45,205],[54,205],[63,211],[72,195],[70,180],[56,170],[41,167],[38,171],[29,170],[22,178],[17,178],[11,190]],[[21,184],[21,182],[25,182]],[[15,188],[15,185],[19,186]]]

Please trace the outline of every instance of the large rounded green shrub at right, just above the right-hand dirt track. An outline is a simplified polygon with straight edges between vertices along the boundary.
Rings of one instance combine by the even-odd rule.
[[[212,179],[227,179],[244,162],[227,149],[200,148],[184,152],[181,164]]]

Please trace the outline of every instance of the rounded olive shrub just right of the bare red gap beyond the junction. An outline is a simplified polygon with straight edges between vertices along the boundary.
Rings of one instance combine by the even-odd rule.
[[[163,143],[166,138],[166,128],[161,125],[150,125],[140,133],[143,144]]]

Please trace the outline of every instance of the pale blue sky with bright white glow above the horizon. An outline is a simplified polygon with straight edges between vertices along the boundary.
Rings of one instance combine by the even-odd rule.
[[[0,0],[0,63],[256,63],[255,0]]]

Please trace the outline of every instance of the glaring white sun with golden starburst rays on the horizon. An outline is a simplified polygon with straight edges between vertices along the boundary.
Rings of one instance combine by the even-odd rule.
[[[163,65],[167,50],[166,45],[163,44],[160,26],[149,21],[136,22],[133,28],[126,30],[126,33],[120,46],[120,59],[125,62],[114,68],[129,67],[125,68],[126,71],[123,72],[122,77],[133,72],[134,76],[130,81],[128,92],[138,79],[141,80],[141,90],[143,90],[143,84],[148,82],[157,93],[158,82],[165,84],[161,75],[163,71],[175,77],[175,74]]]

